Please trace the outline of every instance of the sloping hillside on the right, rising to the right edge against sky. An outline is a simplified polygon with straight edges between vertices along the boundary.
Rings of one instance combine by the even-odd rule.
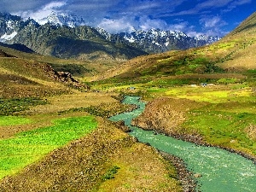
[[[184,51],[140,56],[96,79],[234,73],[256,69],[255,13],[217,43]]]

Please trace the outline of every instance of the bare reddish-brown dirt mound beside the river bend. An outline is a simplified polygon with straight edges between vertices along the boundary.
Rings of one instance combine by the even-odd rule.
[[[201,103],[200,105],[203,107],[205,104]],[[188,134],[181,126],[186,119],[185,113],[198,107],[197,102],[187,99],[160,97],[148,102],[143,114],[137,119],[133,119],[131,125],[141,127],[143,130],[157,131],[185,141],[202,144],[204,142],[198,133]]]

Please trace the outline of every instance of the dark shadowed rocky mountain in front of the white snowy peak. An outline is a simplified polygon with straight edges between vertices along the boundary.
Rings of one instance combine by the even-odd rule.
[[[20,30],[10,43],[25,44],[41,55],[60,58],[125,60],[146,55],[140,49],[108,42],[90,26],[29,26]]]

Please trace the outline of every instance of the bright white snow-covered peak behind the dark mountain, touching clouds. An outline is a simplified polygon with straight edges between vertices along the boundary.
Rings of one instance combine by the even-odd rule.
[[[46,23],[50,23],[54,26],[84,26],[84,20],[82,17],[78,17],[77,15],[67,15],[67,14],[57,14],[52,12],[47,17],[37,20],[40,25],[44,25]]]

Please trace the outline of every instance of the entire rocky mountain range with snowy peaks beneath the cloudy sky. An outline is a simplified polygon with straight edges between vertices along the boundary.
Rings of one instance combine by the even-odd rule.
[[[212,44],[220,39],[195,38],[160,29],[110,34],[101,28],[85,26],[83,18],[76,15],[54,12],[37,21],[0,14],[0,26],[0,42],[4,44],[23,44],[41,55],[81,60],[127,60],[138,55]]]

